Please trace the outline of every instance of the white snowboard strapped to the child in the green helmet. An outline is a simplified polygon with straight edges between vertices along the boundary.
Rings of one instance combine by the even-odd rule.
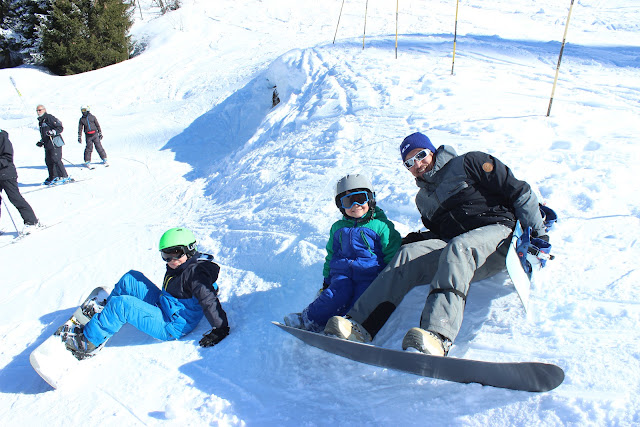
[[[47,338],[31,352],[29,356],[31,366],[51,387],[55,389],[59,388],[72,374],[79,372],[81,360],[91,357],[68,350],[65,341],[69,337],[69,330],[73,326],[84,326],[91,320],[91,318],[83,312],[83,309],[86,308],[89,301],[95,298],[96,302],[98,302],[101,307],[104,307],[110,293],[110,287],[102,286],[95,288],[84,300],[82,305],[74,311],[69,320],[60,325],[52,336]],[[98,351],[104,347],[104,344],[105,343],[102,343],[98,347]],[[95,354],[95,352],[93,354]]]

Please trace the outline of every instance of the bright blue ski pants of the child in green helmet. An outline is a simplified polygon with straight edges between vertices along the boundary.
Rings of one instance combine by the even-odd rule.
[[[176,339],[167,331],[170,319],[158,306],[160,295],[160,289],[144,274],[129,271],[116,283],[104,310],[87,323],[84,336],[97,346],[129,323],[159,340]]]

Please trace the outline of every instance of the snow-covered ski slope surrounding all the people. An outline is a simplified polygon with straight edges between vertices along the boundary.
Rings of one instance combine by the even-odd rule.
[[[150,2],[141,3],[147,19],[133,31],[149,44],[130,61],[70,77],[0,70],[10,95],[0,100],[0,127],[10,133],[21,189],[43,222],[62,221],[0,248],[7,425],[638,423],[637,8],[576,3],[546,117],[568,6],[551,0],[462,2],[453,76],[455,10],[444,0],[428,10],[402,2],[398,59],[391,6],[370,6],[363,50],[363,10],[350,2],[335,44],[338,0],[322,10],[308,1],[194,0],[153,19]],[[33,146],[37,103],[64,123],[64,157],[82,159],[79,87],[95,99],[111,166],[69,165],[71,176],[91,179],[27,193],[46,175]],[[322,283],[341,176],[369,175],[401,234],[421,228],[416,187],[398,161],[400,141],[414,131],[459,153],[497,156],[558,213],[556,259],[534,283],[530,311],[506,273],[474,284],[450,353],[555,363],[566,378],[553,392],[362,365],[270,324],[304,308]],[[0,245],[13,227],[2,208],[0,229],[9,233]],[[159,283],[157,239],[176,225],[191,228],[222,267],[229,338],[199,348],[206,321],[173,342],[125,326],[76,384],[52,391],[29,366],[30,352],[96,284],[129,269]],[[398,348],[427,293],[415,288],[375,344]]]

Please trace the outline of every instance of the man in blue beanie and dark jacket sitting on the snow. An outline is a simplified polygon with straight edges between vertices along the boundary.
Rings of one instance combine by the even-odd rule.
[[[387,267],[345,317],[332,317],[325,333],[371,341],[404,296],[431,285],[420,327],[402,348],[446,356],[460,326],[469,286],[502,271],[517,220],[548,241],[536,196],[495,157],[436,150],[422,133],[400,145],[405,167],[419,187],[416,205],[428,232],[410,233]]]

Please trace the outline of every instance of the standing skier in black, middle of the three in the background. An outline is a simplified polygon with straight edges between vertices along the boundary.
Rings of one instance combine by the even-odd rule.
[[[40,126],[40,141],[36,143],[38,147],[44,147],[44,162],[49,171],[49,177],[44,184],[64,184],[71,180],[67,175],[67,170],[62,163],[62,147],[53,144],[53,138],[62,133],[62,122],[53,115],[47,113],[44,105],[36,107],[38,113],[38,125]]]

